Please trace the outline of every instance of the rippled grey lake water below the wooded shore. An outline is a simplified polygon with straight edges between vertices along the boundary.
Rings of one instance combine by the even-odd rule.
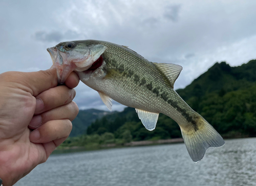
[[[226,140],[197,164],[184,144],[55,154],[21,185],[256,185],[256,138]]]

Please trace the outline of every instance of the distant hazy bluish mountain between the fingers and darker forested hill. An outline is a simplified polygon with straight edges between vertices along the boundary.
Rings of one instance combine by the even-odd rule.
[[[87,127],[90,126],[92,122],[110,113],[109,111],[97,109],[79,110],[77,117],[72,121],[73,128],[70,136],[73,137],[86,133]]]

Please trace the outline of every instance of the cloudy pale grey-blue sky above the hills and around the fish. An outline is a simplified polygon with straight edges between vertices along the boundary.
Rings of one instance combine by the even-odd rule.
[[[255,7],[249,0],[0,0],[0,73],[47,69],[47,48],[96,39],[183,66],[174,87],[184,88],[216,62],[256,59]],[[80,109],[108,110],[95,90],[82,82],[75,89]],[[113,102],[112,110],[123,108]]]

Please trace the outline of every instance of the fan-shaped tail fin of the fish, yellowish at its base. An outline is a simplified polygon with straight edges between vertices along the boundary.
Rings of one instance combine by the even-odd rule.
[[[221,135],[200,115],[198,130],[182,130],[181,133],[187,151],[194,162],[199,162],[209,147],[221,147],[225,144]]]

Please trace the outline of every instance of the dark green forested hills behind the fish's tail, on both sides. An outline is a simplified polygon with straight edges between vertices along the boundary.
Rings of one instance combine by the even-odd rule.
[[[216,63],[178,94],[224,137],[256,136],[256,60],[231,67]],[[154,131],[147,131],[134,108],[106,115],[87,129],[88,135],[112,133],[133,141],[181,137],[176,122],[160,114]]]

